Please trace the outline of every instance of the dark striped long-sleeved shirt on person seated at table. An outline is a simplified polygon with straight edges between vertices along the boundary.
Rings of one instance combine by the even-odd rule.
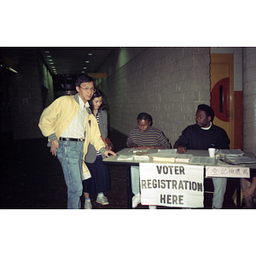
[[[134,128],[130,131],[127,138],[126,145],[129,147],[130,143],[135,143],[138,146],[150,145],[150,146],[164,146],[165,149],[171,148],[168,139],[164,136],[163,132],[149,126],[147,131],[140,131]]]

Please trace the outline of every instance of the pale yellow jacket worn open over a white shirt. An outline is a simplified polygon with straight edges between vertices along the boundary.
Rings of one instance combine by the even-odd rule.
[[[67,129],[73,118],[79,113],[78,97],[78,94],[75,96],[61,96],[52,102],[49,107],[44,109],[38,124],[44,137],[56,137],[56,139],[60,139],[61,133]],[[90,112],[90,108],[86,108],[86,115],[82,164],[83,179],[91,177],[88,167],[84,163],[84,157],[88,152],[89,143],[102,154],[106,151],[99,125],[97,124],[95,116]]]

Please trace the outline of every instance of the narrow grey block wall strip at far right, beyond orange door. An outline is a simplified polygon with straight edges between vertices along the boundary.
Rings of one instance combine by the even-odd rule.
[[[256,155],[256,48],[243,49],[243,150]]]

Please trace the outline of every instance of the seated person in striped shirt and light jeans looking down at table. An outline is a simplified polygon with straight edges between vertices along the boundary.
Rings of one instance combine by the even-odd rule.
[[[148,113],[139,113],[137,116],[137,127],[133,128],[126,145],[129,148],[141,149],[170,149],[172,148],[168,139],[163,132],[152,127],[152,117]],[[131,166],[131,190],[134,196],[132,197],[132,207],[136,208],[141,202],[141,194],[139,187],[140,173],[139,166]]]

